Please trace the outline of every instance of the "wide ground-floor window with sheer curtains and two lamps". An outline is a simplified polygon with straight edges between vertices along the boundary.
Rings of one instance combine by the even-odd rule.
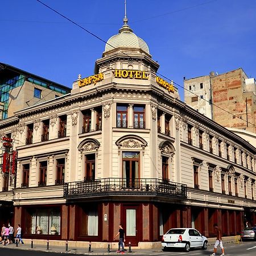
[[[27,209],[25,233],[60,235],[60,209]]]

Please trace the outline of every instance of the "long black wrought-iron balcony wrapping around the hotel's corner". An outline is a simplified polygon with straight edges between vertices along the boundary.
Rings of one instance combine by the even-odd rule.
[[[85,179],[64,183],[64,198],[77,199],[92,196],[161,196],[161,197],[187,197],[187,185],[160,179]]]

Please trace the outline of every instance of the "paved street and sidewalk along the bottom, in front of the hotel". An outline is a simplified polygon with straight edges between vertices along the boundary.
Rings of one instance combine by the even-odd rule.
[[[132,249],[132,253],[126,254],[137,254],[137,255],[209,255],[212,253],[213,246],[209,246],[208,250],[201,249],[192,249],[189,253],[185,253],[180,250],[170,250],[170,251],[162,251],[160,249]],[[256,254],[256,242],[249,241],[243,243],[226,243],[225,244],[225,253],[226,255],[240,255],[240,256],[253,256]],[[59,256],[59,255],[118,255],[114,249],[110,250],[108,254],[104,249],[93,249],[92,253],[88,253],[88,249],[81,248],[69,248],[68,253],[65,253],[65,249],[62,247],[51,247],[49,246],[49,250],[46,250],[44,246],[35,246],[34,249],[31,249],[29,245],[19,245],[19,247],[15,247],[15,245],[8,245],[3,247],[0,245],[0,255],[8,255],[8,256]],[[220,249],[218,248],[217,255],[221,255]]]

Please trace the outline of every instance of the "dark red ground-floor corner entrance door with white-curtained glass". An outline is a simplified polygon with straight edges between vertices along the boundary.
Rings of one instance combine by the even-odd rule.
[[[125,229],[125,246],[131,242],[131,246],[138,246],[142,241],[142,205],[123,204],[121,222]]]

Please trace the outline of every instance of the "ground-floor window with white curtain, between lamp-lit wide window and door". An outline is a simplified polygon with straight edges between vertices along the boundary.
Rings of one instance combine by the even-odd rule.
[[[98,208],[90,205],[81,210],[81,236],[98,236]]]

